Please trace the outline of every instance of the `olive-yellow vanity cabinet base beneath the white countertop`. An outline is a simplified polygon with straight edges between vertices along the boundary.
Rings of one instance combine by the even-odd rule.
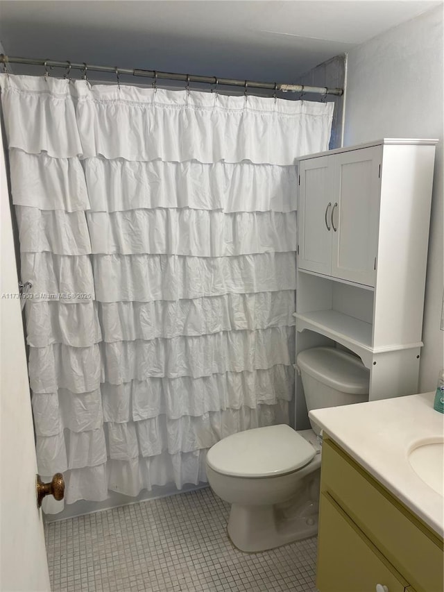
[[[443,592],[443,539],[332,439],[322,455],[319,591]]]

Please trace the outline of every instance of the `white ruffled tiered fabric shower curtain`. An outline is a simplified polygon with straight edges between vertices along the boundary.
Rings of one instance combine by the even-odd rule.
[[[69,504],[205,481],[216,441],[289,421],[294,160],[332,103],[0,85],[40,474]]]

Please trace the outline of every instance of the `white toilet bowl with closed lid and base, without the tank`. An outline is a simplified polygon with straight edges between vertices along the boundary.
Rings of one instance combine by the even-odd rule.
[[[232,505],[228,535],[234,546],[264,551],[316,534],[319,452],[284,424],[232,434],[210,448],[207,479]]]

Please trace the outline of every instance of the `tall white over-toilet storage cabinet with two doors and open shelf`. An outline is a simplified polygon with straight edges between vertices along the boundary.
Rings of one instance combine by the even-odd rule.
[[[370,369],[370,400],[418,392],[436,142],[382,139],[298,162],[296,353],[350,349]]]

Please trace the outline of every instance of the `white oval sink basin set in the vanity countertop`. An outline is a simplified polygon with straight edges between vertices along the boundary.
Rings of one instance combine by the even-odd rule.
[[[416,443],[410,450],[409,463],[422,481],[444,496],[444,439]]]

